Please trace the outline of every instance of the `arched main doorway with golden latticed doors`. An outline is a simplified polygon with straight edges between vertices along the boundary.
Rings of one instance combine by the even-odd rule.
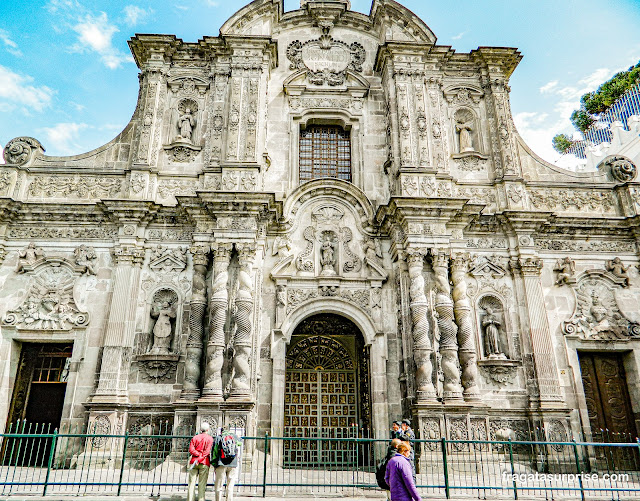
[[[353,322],[319,314],[296,327],[287,350],[284,398],[285,437],[368,436],[369,353]],[[285,460],[313,465],[355,459],[339,442],[301,440],[289,443]]]

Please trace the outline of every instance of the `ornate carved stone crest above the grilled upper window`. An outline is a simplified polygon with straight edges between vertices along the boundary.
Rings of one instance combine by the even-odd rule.
[[[362,44],[347,44],[323,34],[320,38],[301,42],[295,40],[287,47],[292,70],[306,70],[309,82],[315,85],[342,85],[347,70],[362,71],[366,52]]]

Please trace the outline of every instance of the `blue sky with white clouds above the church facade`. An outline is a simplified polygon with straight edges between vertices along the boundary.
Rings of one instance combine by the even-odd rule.
[[[0,0],[0,145],[40,140],[50,155],[72,155],[112,139],[129,121],[138,70],[135,33],[185,41],[217,35],[248,2],[216,0]],[[572,132],[580,96],[640,59],[640,0],[404,0],[458,52],[517,47],[511,78],[518,130],[554,161],[551,138]],[[369,12],[370,0],[351,8]],[[285,1],[285,9],[298,8]],[[1,160],[0,160],[1,161]]]

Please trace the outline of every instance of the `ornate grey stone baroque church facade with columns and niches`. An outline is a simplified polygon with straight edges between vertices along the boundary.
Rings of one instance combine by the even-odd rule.
[[[637,434],[640,150],[547,164],[513,125],[516,49],[349,7],[137,35],[113,141],[9,141],[5,428]]]

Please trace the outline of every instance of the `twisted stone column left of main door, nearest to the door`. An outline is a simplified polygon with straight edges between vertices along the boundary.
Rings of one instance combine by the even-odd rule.
[[[235,300],[236,329],[233,335],[233,378],[230,398],[249,400],[251,398],[251,335],[253,315],[253,277],[251,269],[256,247],[253,244],[236,244],[240,270],[238,272],[238,293]]]

